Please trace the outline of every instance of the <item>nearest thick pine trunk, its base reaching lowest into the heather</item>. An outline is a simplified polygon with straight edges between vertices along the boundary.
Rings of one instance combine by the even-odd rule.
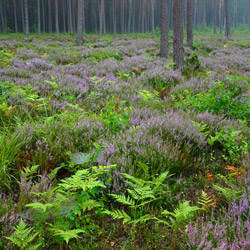
[[[174,62],[177,68],[184,67],[182,0],[173,1]]]

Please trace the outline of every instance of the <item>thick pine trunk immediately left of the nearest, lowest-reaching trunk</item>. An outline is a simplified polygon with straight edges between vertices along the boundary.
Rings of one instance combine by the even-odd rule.
[[[169,0],[160,1],[160,16],[161,16],[161,45],[160,56],[168,57],[168,8]]]

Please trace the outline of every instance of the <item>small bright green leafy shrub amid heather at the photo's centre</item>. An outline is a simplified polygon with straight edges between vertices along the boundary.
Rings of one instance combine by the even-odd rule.
[[[123,127],[128,128],[131,123],[129,119],[131,110],[124,108],[123,103],[113,97],[106,102],[105,109],[100,113],[101,120],[114,133],[118,133]]]

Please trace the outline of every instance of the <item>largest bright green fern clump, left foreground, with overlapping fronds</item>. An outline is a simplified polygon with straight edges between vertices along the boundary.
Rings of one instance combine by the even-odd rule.
[[[95,210],[95,216],[100,213],[103,203],[98,199],[99,190],[105,188],[105,185],[99,180],[99,176],[112,167],[114,166],[78,170],[47,192],[32,193],[39,201],[29,203],[26,207],[34,209],[36,227],[40,233],[52,233],[51,236],[55,239],[60,236],[68,244],[79,233],[89,235],[92,230],[98,229],[91,214],[86,212]],[[45,225],[49,227],[44,227]]]

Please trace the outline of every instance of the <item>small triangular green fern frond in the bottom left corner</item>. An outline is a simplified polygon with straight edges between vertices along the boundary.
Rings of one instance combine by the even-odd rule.
[[[19,224],[14,227],[15,232],[10,237],[5,237],[21,250],[36,250],[41,244],[32,244],[38,233],[31,234],[32,227],[26,228],[26,224],[21,219]],[[31,245],[32,244],[32,245]]]

